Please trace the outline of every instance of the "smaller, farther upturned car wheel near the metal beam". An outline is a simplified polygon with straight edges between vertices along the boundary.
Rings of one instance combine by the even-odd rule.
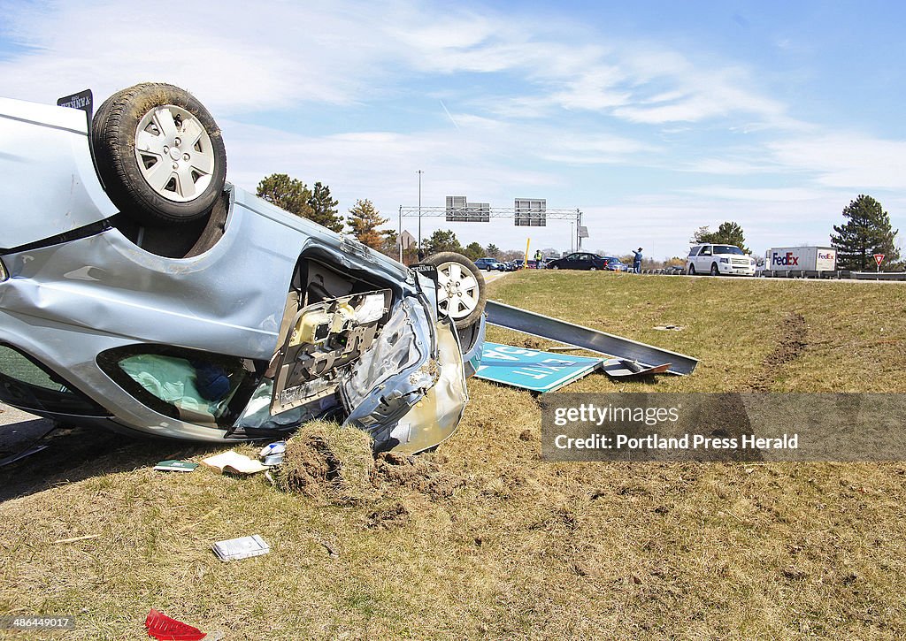
[[[438,268],[440,313],[453,320],[459,330],[479,320],[487,298],[485,277],[475,263],[455,252],[434,254],[427,262]]]

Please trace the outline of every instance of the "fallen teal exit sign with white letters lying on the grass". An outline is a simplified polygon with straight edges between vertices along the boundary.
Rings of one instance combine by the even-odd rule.
[[[603,360],[486,342],[476,376],[535,392],[552,392],[600,368]]]

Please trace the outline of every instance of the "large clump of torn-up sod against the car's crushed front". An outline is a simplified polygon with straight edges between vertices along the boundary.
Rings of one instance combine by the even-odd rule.
[[[370,435],[313,421],[286,441],[284,463],[275,470],[275,482],[284,492],[355,504],[375,497],[373,472]]]

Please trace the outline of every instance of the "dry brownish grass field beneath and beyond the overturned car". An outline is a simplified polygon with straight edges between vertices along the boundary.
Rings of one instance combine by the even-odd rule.
[[[526,272],[491,292],[701,359],[569,391],[906,391],[900,284]],[[906,636],[906,464],[545,463],[535,397],[469,391],[448,443],[355,492],[154,473],[214,450],[63,433],[0,470],[30,488],[0,503],[0,610],[74,614],[86,639],[141,637],[152,607],[228,639]],[[209,550],[252,533],[269,555]]]

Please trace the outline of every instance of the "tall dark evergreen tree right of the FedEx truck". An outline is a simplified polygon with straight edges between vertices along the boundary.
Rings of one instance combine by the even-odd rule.
[[[899,229],[891,227],[891,216],[881,203],[860,194],[843,209],[844,225],[834,225],[831,245],[837,250],[837,267],[866,270],[875,266],[872,254],[884,254],[887,263],[900,260],[895,244]]]

